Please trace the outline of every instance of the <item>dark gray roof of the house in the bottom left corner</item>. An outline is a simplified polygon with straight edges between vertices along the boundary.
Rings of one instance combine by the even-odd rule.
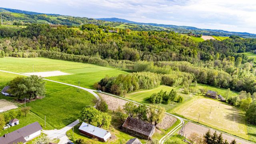
[[[26,142],[24,139],[26,136],[29,136],[39,130],[42,130],[42,127],[38,122],[34,122],[30,125],[24,126],[18,130],[15,130],[9,134],[6,134],[6,137],[0,137],[0,144],[13,144],[17,142]]]

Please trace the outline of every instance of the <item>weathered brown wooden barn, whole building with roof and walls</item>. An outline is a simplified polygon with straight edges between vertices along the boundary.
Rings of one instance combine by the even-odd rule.
[[[124,124],[122,125],[122,129],[126,132],[144,138],[146,140],[150,140],[155,132],[155,126],[143,120],[138,120],[136,118],[128,117]]]

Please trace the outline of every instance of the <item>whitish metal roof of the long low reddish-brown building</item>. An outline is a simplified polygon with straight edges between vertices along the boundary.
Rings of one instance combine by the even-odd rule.
[[[97,136],[99,138],[103,138],[104,140],[107,140],[111,136],[110,132],[108,132],[107,130],[98,128],[97,126],[93,126],[91,124],[87,124],[86,122],[83,122],[81,124],[79,130]]]

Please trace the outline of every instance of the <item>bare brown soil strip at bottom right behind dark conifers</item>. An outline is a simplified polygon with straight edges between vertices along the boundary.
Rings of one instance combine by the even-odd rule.
[[[186,125],[185,125],[185,130],[184,130],[184,134],[189,137],[190,134],[192,134],[192,132],[196,132],[198,133],[199,135],[201,135],[203,137],[203,135],[209,130],[209,128],[206,128],[204,126],[200,126],[198,124],[194,124],[192,122],[188,122]],[[215,131],[213,129],[210,128],[210,131],[212,133],[214,133]],[[220,132],[217,132],[217,134],[220,134]],[[232,140],[236,140],[236,142],[239,144],[252,144],[250,142],[247,142],[247,141],[244,141],[244,140],[241,140],[241,139],[238,139],[238,138],[234,138],[233,136],[230,136],[230,135],[227,135],[227,134],[222,134],[223,136],[223,139],[227,139],[228,142],[231,142]]]

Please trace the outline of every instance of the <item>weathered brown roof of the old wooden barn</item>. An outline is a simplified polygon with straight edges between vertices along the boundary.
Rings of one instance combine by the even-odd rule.
[[[140,134],[144,134],[146,136],[150,136],[152,130],[154,130],[155,126],[143,120],[138,120],[136,118],[128,117],[123,127],[128,128],[130,130],[134,130]]]

